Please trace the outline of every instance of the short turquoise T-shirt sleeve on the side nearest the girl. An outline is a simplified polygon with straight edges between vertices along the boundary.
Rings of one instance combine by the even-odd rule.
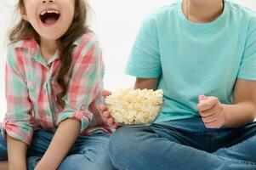
[[[140,26],[125,72],[134,77],[156,78],[161,69],[156,21],[148,17]]]

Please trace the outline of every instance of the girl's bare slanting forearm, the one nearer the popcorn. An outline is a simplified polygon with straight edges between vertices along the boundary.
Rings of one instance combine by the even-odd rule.
[[[54,138],[36,169],[54,170],[59,167],[80,132],[81,123],[74,119],[67,119],[60,123]]]

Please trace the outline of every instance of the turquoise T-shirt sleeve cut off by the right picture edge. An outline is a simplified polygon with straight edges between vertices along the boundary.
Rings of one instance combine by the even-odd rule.
[[[256,17],[251,20],[248,27],[238,78],[256,81]]]

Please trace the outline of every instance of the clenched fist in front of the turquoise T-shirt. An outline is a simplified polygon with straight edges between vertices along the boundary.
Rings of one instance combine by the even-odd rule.
[[[219,128],[225,125],[224,105],[219,102],[217,97],[200,95],[198,101],[197,108],[202,116],[202,122],[204,122],[205,127]]]

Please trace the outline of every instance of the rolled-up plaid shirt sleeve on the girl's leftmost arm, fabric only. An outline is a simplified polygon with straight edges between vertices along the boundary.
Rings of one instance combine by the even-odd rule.
[[[3,120],[2,132],[5,136],[7,133],[12,138],[29,145],[33,135],[32,104],[24,75],[23,56],[15,50],[9,47],[6,59],[7,113]]]

